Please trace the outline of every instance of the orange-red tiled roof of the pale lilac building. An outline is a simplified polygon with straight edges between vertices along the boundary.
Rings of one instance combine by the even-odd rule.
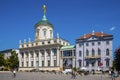
[[[77,40],[90,38],[91,36],[96,36],[96,37],[108,37],[108,36],[112,36],[112,35],[105,34],[105,33],[103,33],[103,32],[94,32],[94,33],[85,34],[85,35],[81,36],[80,38],[78,38]]]

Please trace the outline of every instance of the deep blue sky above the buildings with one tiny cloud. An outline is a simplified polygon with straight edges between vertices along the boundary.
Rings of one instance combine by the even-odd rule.
[[[113,51],[120,46],[120,0],[0,0],[0,51],[18,49],[19,40],[34,41],[44,4],[54,37],[59,33],[75,44],[94,30],[113,35]]]

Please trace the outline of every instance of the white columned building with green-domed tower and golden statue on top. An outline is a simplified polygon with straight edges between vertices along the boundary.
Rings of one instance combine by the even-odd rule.
[[[35,24],[35,40],[20,41],[19,70],[59,70],[60,48],[69,42],[53,37],[54,27],[46,18],[46,6],[43,6],[44,16]]]

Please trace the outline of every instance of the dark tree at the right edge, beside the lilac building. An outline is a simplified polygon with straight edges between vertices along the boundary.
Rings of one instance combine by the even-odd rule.
[[[115,50],[115,68],[120,71],[120,47]]]

